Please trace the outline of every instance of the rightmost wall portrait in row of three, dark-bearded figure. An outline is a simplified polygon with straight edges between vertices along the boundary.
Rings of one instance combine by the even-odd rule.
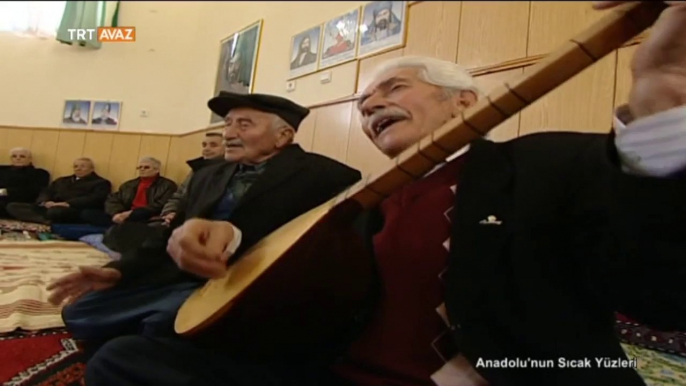
[[[362,8],[358,57],[405,45],[407,1],[373,1]]]

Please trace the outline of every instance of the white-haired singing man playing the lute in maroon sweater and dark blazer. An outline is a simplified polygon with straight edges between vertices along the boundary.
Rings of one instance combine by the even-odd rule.
[[[367,217],[376,304],[331,371],[132,335],[100,349],[86,383],[644,385],[634,368],[596,359],[625,358],[615,310],[686,328],[686,9],[672,3],[636,51],[613,133],[475,141]],[[437,59],[386,63],[359,100],[363,130],[395,157],[474,105],[473,82]],[[218,277],[226,264],[212,257],[233,232],[220,219],[187,222],[169,251],[183,269]],[[318,253],[337,253],[326,245]],[[502,365],[508,359],[553,364]],[[578,368],[584,359],[590,368]]]

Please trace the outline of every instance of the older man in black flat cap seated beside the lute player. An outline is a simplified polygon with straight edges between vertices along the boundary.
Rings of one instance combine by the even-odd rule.
[[[67,328],[91,348],[120,335],[173,331],[178,308],[205,282],[170,258],[180,236],[211,244],[230,235],[233,242],[222,251],[238,257],[360,179],[357,170],[293,143],[309,114],[305,107],[272,95],[223,91],[208,106],[224,117],[225,162],[193,175],[170,227],[119,261],[82,267],[49,287],[51,302],[69,303],[62,313]],[[185,253],[180,266],[206,267],[211,277],[210,263],[225,261],[224,255],[198,252]]]

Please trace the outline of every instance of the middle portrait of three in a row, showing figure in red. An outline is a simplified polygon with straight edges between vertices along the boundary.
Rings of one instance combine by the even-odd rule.
[[[359,8],[324,23],[319,69],[355,59],[359,26]]]

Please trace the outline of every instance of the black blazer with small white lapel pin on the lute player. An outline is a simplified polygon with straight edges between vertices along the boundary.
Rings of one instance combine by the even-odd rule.
[[[445,298],[460,352],[491,386],[644,385],[633,369],[477,363],[626,358],[615,311],[686,330],[686,178],[622,172],[613,135],[478,141],[465,156]],[[360,221],[371,245],[383,218]]]

